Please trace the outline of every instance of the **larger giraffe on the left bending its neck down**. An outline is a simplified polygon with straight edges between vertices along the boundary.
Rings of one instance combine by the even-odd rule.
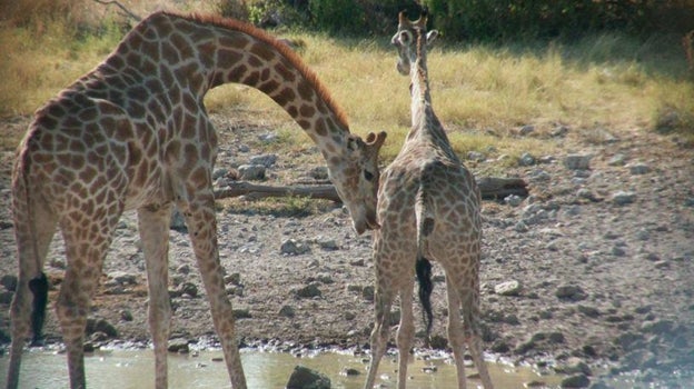
[[[186,218],[231,385],[246,387],[217,247],[217,136],[204,106],[206,92],[227,82],[255,87],[281,106],[320,148],[357,233],[378,228],[377,154],[385,132],[370,133],[366,142],[350,134],[316,76],[262,31],[212,17],[153,13],[101,64],[38,110],[18,149],[12,208],[19,285],[11,305],[8,388],[19,385],[30,321],[33,340],[41,338],[48,292],[42,268],[56,226],[68,257],[57,315],[70,387],[85,388],[87,312],[116,225],[129,209],[137,209],[147,262],[156,387],[167,387],[172,203]]]

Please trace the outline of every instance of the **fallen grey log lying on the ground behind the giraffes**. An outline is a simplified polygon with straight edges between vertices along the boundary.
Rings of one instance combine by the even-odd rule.
[[[502,177],[479,177],[476,179],[482,198],[486,200],[504,199],[507,196],[516,194],[526,197],[528,194],[527,183],[520,178]],[[235,181],[228,187],[215,190],[216,199],[245,196],[247,199],[257,200],[267,197],[308,197],[311,199],[325,199],[340,202],[335,187],[331,184],[299,184],[274,187],[256,184],[247,181]]]

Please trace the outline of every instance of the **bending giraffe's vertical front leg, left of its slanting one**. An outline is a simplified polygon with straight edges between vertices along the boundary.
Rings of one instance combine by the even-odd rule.
[[[138,229],[147,263],[149,328],[155,345],[155,387],[167,388],[167,349],[171,322],[169,280],[169,225],[171,205],[138,209]]]

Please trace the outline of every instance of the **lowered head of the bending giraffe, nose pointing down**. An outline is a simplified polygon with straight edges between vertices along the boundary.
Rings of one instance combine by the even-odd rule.
[[[351,225],[358,235],[380,227],[376,217],[380,178],[378,150],[385,140],[386,132],[371,132],[366,141],[356,134],[348,134],[345,154],[327,158],[330,181],[349,210]]]

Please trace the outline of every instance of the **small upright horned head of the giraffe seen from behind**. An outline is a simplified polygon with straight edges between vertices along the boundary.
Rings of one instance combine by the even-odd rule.
[[[426,11],[416,21],[407,19],[405,11],[398,14],[398,30],[390,39],[398,50],[398,72],[403,76],[409,76],[412,64],[417,60],[417,52],[426,50],[426,48],[438,37],[437,30],[426,31],[427,14]]]

